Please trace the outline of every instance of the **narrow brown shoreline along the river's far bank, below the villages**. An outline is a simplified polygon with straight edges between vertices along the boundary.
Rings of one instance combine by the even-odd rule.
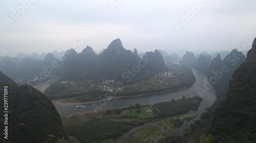
[[[197,80],[195,80],[192,84],[183,87],[183,88],[179,88],[176,90],[167,90],[167,91],[161,91],[161,92],[155,92],[155,93],[148,93],[148,94],[140,94],[140,95],[132,95],[132,96],[111,96],[110,98],[117,98],[117,99],[121,99],[121,98],[136,98],[136,97],[141,97],[141,96],[148,96],[148,95],[153,95],[153,94],[159,94],[159,93],[168,93],[168,92],[174,92],[174,91],[180,91],[180,90],[185,90],[188,89],[190,87],[192,87]],[[66,100],[66,101],[65,101]],[[88,101],[88,102],[67,102],[67,99],[59,99],[59,100],[52,100],[52,103],[58,106],[70,106],[70,105],[78,105],[78,104],[91,104],[91,103],[99,103],[102,101],[106,101],[106,99],[102,99],[102,100],[98,100],[98,101]]]

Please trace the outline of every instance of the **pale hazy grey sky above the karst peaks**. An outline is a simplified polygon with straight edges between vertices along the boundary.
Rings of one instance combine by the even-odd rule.
[[[242,49],[256,37],[255,0],[205,0],[196,14],[199,0],[33,1],[26,8],[21,2],[29,0],[0,1],[0,55],[67,50],[74,40],[77,52],[86,45],[100,51],[117,38],[139,52],[213,52]],[[175,23],[183,24],[179,31]],[[75,35],[86,39],[80,44]]]

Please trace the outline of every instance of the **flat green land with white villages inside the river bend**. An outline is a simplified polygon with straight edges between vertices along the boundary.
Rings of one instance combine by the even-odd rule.
[[[131,83],[124,85],[122,88],[117,88],[116,83],[104,84],[102,79],[62,81],[60,78],[50,85],[45,94],[52,100],[67,99],[66,102],[87,102],[105,99],[105,94],[120,97],[177,90],[195,82],[195,76],[188,68],[175,65],[169,67],[166,72],[172,72],[174,76],[168,77],[168,74],[161,73],[158,75],[159,73],[156,73],[154,76],[131,81]]]

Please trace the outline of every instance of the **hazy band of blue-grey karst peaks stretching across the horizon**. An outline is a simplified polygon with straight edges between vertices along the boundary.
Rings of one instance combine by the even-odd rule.
[[[242,52],[245,53],[246,51]],[[180,62],[187,67],[198,67],[200,65],[201,67],[198,67],[198,69],[205,72],[205,69],[210,66],[211,58],[220,54],[223,60],[229,53],[229,51],[211,54],[202,52],[197,54],[196,57],[194,53],[187,52],[182,59],[177,53],[168,54],[161,49],[154,52],[139,53],[135,48],[132,52],[122,46],[120,39],[116,39],[106,49],[102,49],[98,53],[92,47],[87,46],[81,53],[77,53],[75,49],[69,49],[60,52],[55,50],[52,53],[41,53],[40,55],[35,52],[32,54],[19,52],[14,58],[8,55],[0,56],[0,70],[13,77],[31,77],[34,75],[39,77],[42,71],[47,71],[46,74],[64,74],[67,76],[87,75],[88,73],[93,73],[90,76],[99,74],[102,76],[116,75],[129,68],[131,69],[134,65],[138,65],[140,60],[145,61],[143,60],[145,56],[150,56],[154,60],[150,61],[143,68],[144,70],[157,71],[163,69],[165,64],[172,65],[173,62]],[[58,65],[56,68],[49,67],[52,61],[54,61],[53,64]]]

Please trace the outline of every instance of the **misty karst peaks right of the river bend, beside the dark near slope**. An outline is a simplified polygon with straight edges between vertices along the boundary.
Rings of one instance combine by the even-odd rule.
[[[199,58],[196,58],[193,52],[186,52],[180,64],[189,68],[196,68],[208,77],[216,89],[217,100],[214,105],[218,106],[225,99],[225,91],[228,88],[228,81],[232,79],[233,72],[245,60],[246,57],[242,52],[233,49],[223,60],[220,53],[211,60],[209,54],[201,54]]]

